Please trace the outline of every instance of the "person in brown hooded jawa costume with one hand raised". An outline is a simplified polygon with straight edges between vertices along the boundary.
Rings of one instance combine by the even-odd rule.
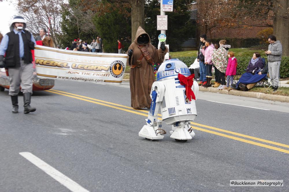
[[[151,38],[138,27],[136,38],[128,48],[127,65],[130,66],[129,85],[131,107],[134,109],[150,108],[151,86],[155,81],[153,63],[162,63],[168,49],[161,43],[160,49],[151,44]]]

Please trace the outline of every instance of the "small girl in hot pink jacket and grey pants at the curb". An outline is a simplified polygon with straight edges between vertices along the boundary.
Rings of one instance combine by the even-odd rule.
[[[231,90],[233,89],[232,84],[234,80],[234,75],[236,75],[237,71],[237,59],[235,56],[235,53],[233,51],[228,52],[228,65],[226,69],[226,75],[227,75],[227,87],[224,89]],[[231,87],[229,88],[229,85],[231,84]]]

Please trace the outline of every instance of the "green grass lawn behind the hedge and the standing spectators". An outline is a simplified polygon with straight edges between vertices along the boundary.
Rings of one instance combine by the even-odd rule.
[[[266,54],[263,50],[252,50],[250,48],[232,48],[229,51],[233,51],[235,56],[253,56],[253,53],[259,52],[262,57],[265,57]],[[178,57],[197,57],[198,51],[180,51],[180,52],[170,52],[172,58]]]

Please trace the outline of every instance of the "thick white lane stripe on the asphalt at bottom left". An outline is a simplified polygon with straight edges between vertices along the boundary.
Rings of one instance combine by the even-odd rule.
[[[35,156],[32,153],[29,152],[21,152],[19,153],[22,155],[25,159],[36,165],[38,168],[40,168],[42,171],[47,173],[49,176],[51,176],[53,179],[60,182],[62,185],[67,187],[70,191],[73,192],[89,192],[88,190],[81,187],[79,184],[65,176],[64,174],[60,173],[58,170],[54,169],[41,159],[39,159],[37,156]]]

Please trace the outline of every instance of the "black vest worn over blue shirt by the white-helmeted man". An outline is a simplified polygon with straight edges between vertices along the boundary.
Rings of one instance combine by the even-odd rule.
[[[24,44],[24,63],[31,63],[32,53],[29,48],[29,41],[31,40],[31,33],[24,30],[25,33],[21,32],[21,36]],[[5,64],[6,67],[20,67],[20,53],[19,53],[19,35],[15,34],[14,31],[7,33],[9,37],[8,48],[6,50]]]

